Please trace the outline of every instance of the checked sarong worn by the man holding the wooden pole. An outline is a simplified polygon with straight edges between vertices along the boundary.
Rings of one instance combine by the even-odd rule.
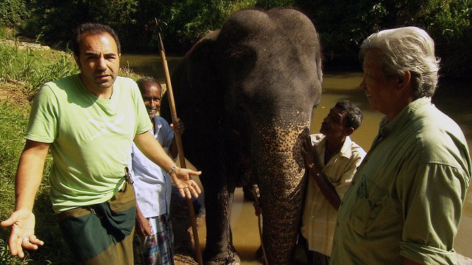
[[[135,234],[133,251],[135,265],[168,265],[174,264],[172,244],[172,224],[169,214],[147,218],[150,222],[152,234],[144,239]]]

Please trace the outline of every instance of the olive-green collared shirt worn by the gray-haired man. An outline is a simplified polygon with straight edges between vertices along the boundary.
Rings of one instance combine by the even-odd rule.
[[[342,200],[330,264],[456,264],[470,180],[466,139],[430,98],[384,118]]]

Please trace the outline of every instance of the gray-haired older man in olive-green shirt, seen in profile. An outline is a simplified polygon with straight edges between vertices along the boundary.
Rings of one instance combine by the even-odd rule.
[[[471,160],[459,126],[431,104],[434,41],[416,27],[380,31],[360,58],[360,87],[385,117],[342,199],[330,264],[456,264]]]

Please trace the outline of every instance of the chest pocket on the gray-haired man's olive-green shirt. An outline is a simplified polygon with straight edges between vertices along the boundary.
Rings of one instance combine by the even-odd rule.
[[[363,178],[356,197],[350,217],[353,229],[362,235],[380,229],[379,225],[388,217],[388,190]]]

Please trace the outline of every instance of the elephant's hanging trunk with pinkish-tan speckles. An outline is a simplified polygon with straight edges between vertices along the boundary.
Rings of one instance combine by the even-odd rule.
[[[270,128],[267,124],[256,126],[261,136],[253,144],[260,146],[253,150],[260,153],[253,173],[261,191],[263,239],[271,265],[290,264],[298,236],[305,190],[301,149],[310,124],[309,118],[303,120]]]

